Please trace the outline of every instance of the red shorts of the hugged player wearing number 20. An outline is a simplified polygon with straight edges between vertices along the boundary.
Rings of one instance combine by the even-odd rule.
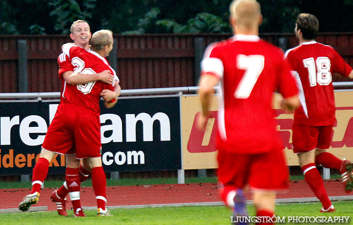
[[[83,159],[101,156],[99,114],[82,106],[60,104],[45,135],[43,148]]]

